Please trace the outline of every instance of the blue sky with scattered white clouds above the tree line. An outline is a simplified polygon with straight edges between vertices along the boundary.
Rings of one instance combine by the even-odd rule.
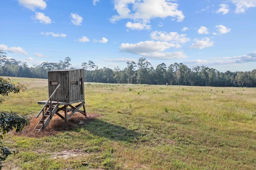
[[[256,69],[256,0],[0,0],[0,49],[29,66],[70,57],[123,69]]]

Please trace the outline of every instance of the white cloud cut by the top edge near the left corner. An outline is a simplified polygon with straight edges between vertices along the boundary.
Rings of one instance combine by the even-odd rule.
[[[18,0],[20,6],[28,8],[29,10],[35,11],[36,8],[44,10],[47,6],[44,0]]]

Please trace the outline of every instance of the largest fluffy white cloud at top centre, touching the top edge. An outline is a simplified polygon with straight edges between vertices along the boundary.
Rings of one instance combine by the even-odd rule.
[[[114,9],[118,15],[112,16],[111,22],[122,19],[134,20],[136,25],[126,24],[130,28],[141,29],[141,26],[147,26],[152,18],[176,18],[178,22],[182,21],[185,16],[182,11],[178,10],[178,4],[166,0],[114,0]],[[137,23],[141,23],[138,25]],[[143,29],[150,29],[144,27]]]

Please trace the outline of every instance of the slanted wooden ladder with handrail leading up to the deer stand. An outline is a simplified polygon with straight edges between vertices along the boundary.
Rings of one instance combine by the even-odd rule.
[[[44,106],[36,116],[36,118],[38,118],[39,115],[42,113],[42,119],[38,122],[34,130],[40,132],[40,130],[45,129],[48,123],[50,122],[50,120],[52,119],[52,117],[54,116],[54,114],[56,113],[56,111],[58,110],[59,100],[57,99],[57,103],[56,102],[53,103],[52,97],[55,95],[55,93],[57,93],[57,96],[58,96],[59,88],[60,88],[60,85],[56,87],[52,95],[49,97],[48,101],[46,101],[46,103],[44,104]]]

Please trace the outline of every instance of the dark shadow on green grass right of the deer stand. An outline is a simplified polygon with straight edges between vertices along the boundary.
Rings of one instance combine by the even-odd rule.
[[[109,138],[110,140],[136,142],[142,134],[125,127],[114,125],[99,119],[92,119],[82,126],[95,136]]]

